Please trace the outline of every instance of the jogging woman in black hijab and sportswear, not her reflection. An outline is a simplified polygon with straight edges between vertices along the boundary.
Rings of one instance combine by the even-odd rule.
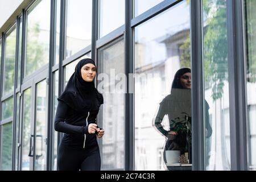
[[[55,130],[64,133],[60,142],[57,165],[59,170],[100,170],[101,158],[97,139],[104,130],[96,124],[103,104],[102,94],[94,86],[96,65],[82,59],[58,98]]]

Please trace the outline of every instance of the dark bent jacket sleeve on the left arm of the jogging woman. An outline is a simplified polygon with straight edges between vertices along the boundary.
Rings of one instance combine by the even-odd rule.
[[[55,115],[55,130],[62,133],[89,134],[88,126],[74,126],[65,123],[65,119],[68,118],[69,109],[69,106],[65,102],[59,101]]]

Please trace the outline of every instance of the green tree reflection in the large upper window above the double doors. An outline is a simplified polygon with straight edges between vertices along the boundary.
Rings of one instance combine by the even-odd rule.
[[[39,42],[39,23],[30,24],[27,30],[26,75],[33,73],[44,65],[44,45]],[[48,51],[48,50],[47,50]]]

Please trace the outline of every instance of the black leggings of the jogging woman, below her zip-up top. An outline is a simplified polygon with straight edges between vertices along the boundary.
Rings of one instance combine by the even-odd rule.
[[[59,171],[100,171],[101,157],[98,144],[75,148],[60,143],[57,165]]]

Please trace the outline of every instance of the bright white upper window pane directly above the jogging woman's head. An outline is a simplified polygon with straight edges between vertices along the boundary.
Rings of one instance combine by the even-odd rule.
[[[66,58],[92,44],[92,0],[68,0],[67,9]]]

